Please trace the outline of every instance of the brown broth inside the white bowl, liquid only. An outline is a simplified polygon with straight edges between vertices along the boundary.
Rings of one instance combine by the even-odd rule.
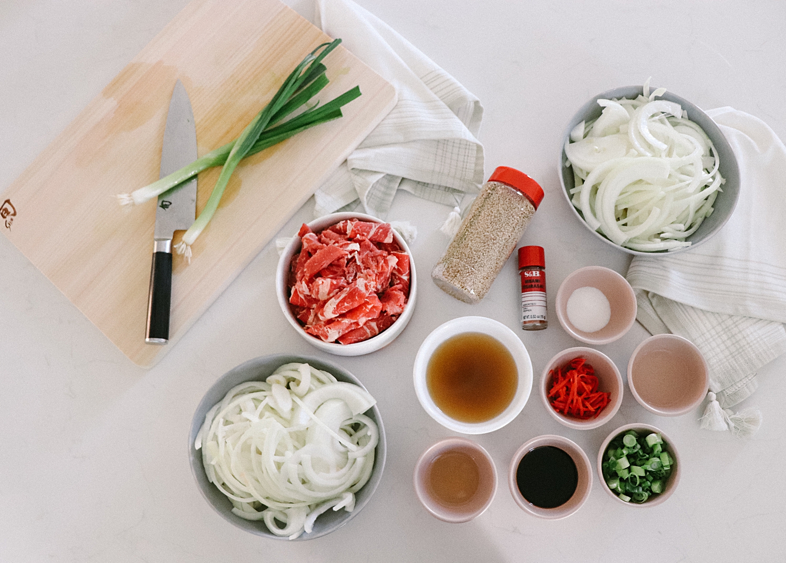
[[[485,422],[501,414],[516,395],[516,361],[499,340],[462,333],[445,340],[426,368],[428,394],[439,410],[461,422]]]

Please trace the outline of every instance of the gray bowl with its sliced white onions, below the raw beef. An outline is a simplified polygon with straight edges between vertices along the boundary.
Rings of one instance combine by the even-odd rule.
[[[219,377],[189,434],[204,499],[230,524],[271,539],[314,539],[347,524],[380,483],[386,451],[380,411],[358,378],[303,355],[251,359]]]

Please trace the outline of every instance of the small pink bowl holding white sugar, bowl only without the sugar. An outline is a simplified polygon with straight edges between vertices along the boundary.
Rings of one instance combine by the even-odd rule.
[[[580,287],[600,289],[612,307],[608,324],[593,333],[586,333],[573,326],[567,318],[567,300]],[[567,276],[556,292],[556,318],[565,332],[586,344],[614,342],[634,326],[636,320],[636,295],[625,278],[614,270],[602,266],[587,266]]]

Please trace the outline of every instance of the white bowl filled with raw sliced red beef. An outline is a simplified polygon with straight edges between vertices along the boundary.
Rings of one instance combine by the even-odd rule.
[[[415,264],[389,223],[332,213],[301,226],[284,249],[276,293],[289,324],[310,344],[336,355],[369,354],[410,322]]]

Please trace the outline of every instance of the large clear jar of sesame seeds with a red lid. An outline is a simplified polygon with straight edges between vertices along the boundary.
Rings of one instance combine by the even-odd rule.
[[[538,182],[515,168],[498,167],[432,270],[434,283],[465,303],[483,299],[542,199]]]

